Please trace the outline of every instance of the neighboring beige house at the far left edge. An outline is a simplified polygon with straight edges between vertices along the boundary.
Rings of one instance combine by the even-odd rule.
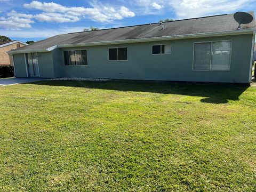
[[[7,51],[11,51],[26,45],[28,44],[21,41],[0,42],[0,65],[12,64],[12,57],[9,56]]]

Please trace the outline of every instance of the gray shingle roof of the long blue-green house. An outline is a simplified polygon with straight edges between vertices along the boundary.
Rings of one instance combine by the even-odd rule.
[[[248,12],[253,16],[253,21],[242,25],[242,29],[256,28],[254,12]],[[61,44],[95,43],[106,41],[122,41],[127,39],[141,39],[151,37],[178,36],[189,34],[211,33],[218,31],[236,30],[238,23],[233,18],[234,14],[222,14],[210,17],[185,19],[164,22],[165,29],[159,23],[151,25],[138,25],[53,36],[34,44],[21,47],[18,51],[33,51],[48,49]]]

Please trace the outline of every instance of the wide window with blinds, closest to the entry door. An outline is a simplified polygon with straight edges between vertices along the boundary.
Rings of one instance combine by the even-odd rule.
[[[87,65],[87,51],[64,51],[65,65]]]

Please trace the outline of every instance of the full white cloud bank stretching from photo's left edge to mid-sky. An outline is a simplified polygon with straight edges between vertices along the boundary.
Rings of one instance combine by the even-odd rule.
[[[6,0],[0,0],[6,1]],[[43,11],[41,13],[25,14],[11,11],[6,17],[0,18],[0,26],[8,29],[30,28],[33,19],[41,22],[77,22],[81,19],[90,19],[97,22],[111,22],[128,17],[134,17],[135,13],[125,6],[110,6],[94,1],[92,7],[67,7],[57,3],[45,3],[32,1],[23,5],[26,9]]]

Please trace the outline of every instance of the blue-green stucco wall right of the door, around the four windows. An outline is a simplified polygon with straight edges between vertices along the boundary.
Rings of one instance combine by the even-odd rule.
[[[230,71],[193,71],[195,42],[232,40]],[[171,54],[152,55],[154,44],[171,43]],[[41,77],[87,77],[163,81],[248,83],[252,34],[162,42],[74,47],[40,53]],[[109,47],[127,47],[127,61],[109,61]],[[65,66],[63,51],[87,49],[87,66]],[[23,59],[24,60],[24,59]],[[16,63],[15,63],[16,66]],[[41,72],[42,70],[42,72]]]

